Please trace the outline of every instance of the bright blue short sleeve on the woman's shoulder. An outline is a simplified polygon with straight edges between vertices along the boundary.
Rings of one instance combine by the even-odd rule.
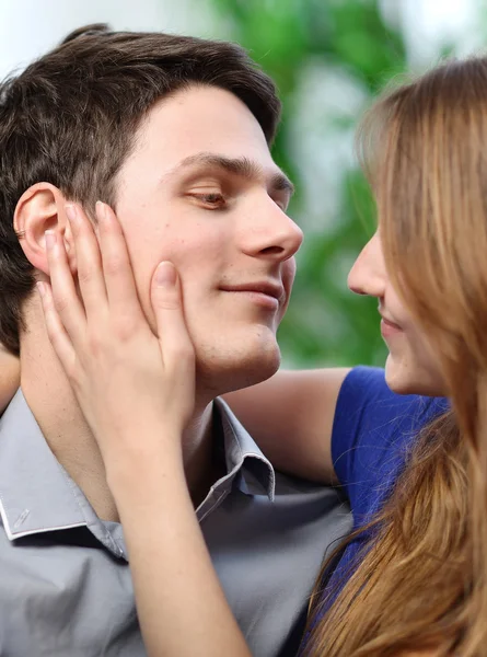
[[[356,525],[379,510],[415,436],[447,410],[441,397],[395,394],[380,368],[349,372],[338,394],[332,458]]]

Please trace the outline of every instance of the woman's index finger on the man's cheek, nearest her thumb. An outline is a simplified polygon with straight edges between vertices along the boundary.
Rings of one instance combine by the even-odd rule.
[[[103,273],[111,312],[132,324],[143,319],[121,226],[109,206],[96,204]]]

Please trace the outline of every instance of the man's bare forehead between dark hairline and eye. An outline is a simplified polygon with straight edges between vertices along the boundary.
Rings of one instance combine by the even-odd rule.
[[[218,88],[190,88],[155,104],[139,128],[130,160],[143,165],[146,176],[150,168],[163,182],[192,170],[219,170],[292,191],[254,114]]]

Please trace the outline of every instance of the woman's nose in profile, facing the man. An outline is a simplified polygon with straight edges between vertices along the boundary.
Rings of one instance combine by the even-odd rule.
[[[356,295],[383,297],[386,272],[381,240],[375,233],[360,252],[348,275],[348,287]]]

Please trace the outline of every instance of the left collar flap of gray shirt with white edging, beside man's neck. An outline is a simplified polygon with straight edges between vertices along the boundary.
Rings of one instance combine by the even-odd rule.
[[[0,417],[0,515],[8,538],[86,526],[86,504],[19,390]]]

